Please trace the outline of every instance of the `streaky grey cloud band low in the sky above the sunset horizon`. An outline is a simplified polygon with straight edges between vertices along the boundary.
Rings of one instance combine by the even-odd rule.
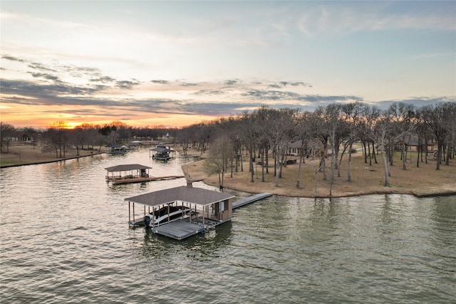
[[[244,82],[239,79],[221,80],[214,83],[192,83],[185,80],[150,80],[150,83],[163,85],[169,91],[176,85],[188,87],[188,94],[194,99],[177,100],[166,98],[133,99],[133,98],[98,98],[96,93],[109,88],[132,90],[142,82],[140,80],[119,80],[102,75],[97,68],[78,67],[73,65],[43,65],[30,62],[15,56],[4,55],[2,58],[9,61],[24,63],[28,73],[34,80],[1,79],[1,103],[15,103],[23,105],[79,105],[77,109],[66,110],[74,115],[103,115],[115,119],[139,116],[140,113],[185,114],[185,115],[212,115],[216,117],[236,115],[246,109],[259,108],[268,105],[271,108],[299,108],[314,110],[318,105],[328,103],[345,103],[353,100],[363,100],[356,95],[315,95],[296,93],[298,87],[311,88],[311,85],[301,81],[268,81],[258,80]],[[87,83],[80,85],[66,83],[63,75],[85,77]],[[47,81],[43,81],[47,80]],[[214,87],[215,85],[215,87]],[[253,88],[248,88],[248,86]],[[207,89],[209,88],[209,89]],[[264,88],[264,89],[261,89]],[[20,96],[24,96],[21,98]],[[187,98],[189,95],[186,95]],[[198,100],[197,96],[204,96],[204,100],[212,97],[211,101]],[[202,99],[202,98],[201,98]],[[217,100],[217,101],[216,101]],[[442,101],[455,101],[450,97],[414,97],[405,100],[383,100],[378,105],[388,108],[391,103],[398,101],[417,106],[430,105]],[[95,108],[95,109],[94,109]]]

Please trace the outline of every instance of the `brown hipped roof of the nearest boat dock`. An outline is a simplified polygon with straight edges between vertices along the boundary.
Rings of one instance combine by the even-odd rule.
[[[129,197],[125,201],[132,201],[133,203],[147,206],[185,201],[187,203],[206,206],[226,199],[232,199],[233,197],[234,195],[232,194],[225,194],[214,190],[182,186]]]

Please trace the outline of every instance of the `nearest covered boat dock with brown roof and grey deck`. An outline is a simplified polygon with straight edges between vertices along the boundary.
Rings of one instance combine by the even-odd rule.
[[[192,186],[192,182],[187,182],[187,186],[159,190],[125,199],[128,201],[128,224],[130,226],[142,224],[142,218],[147,212],[151,214],[151,207],[153,213],[154,208],[160,209],[160,206],[169,204],[187,206],[191,211],[186,216],[182,214],[182,219],[151,227],[155,234],[178,240],[185,239],[225,221],[231,221],[233,198],[232,194],[195,188]],[[135,214],[135,204],[143,206],[141,215]]]

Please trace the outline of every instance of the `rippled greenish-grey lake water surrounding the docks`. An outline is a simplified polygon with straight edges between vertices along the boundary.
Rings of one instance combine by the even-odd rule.
[[[129,228],[126,197],[185,179],[113,187],[104,168],[190,161],[1,169],[0,303],[456,303],[455,196],[271,196],[184,241]]]

